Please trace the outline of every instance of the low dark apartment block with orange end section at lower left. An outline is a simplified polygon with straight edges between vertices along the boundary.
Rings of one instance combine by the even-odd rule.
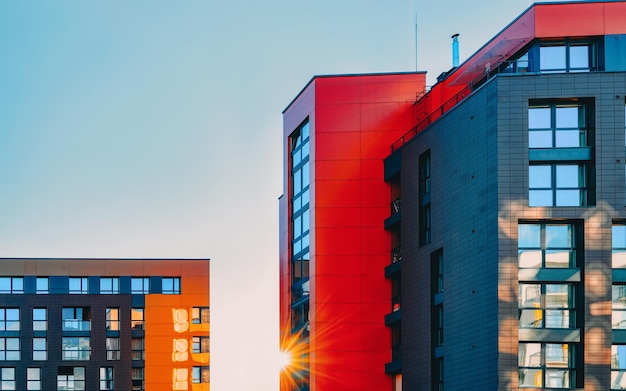
[[[209,260],[0,259],[0,389],[209,390]]]

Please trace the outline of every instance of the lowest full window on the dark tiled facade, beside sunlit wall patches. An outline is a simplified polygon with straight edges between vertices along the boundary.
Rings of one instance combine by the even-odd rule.
[[[576,388],[573,344],[519,344],[519,387]]]

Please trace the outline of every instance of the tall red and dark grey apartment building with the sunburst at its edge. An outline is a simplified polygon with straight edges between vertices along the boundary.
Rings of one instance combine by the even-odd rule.
[[[431,88],[313,78],[284,112],[284,390],[626,388],[624,21],[539,3]]]

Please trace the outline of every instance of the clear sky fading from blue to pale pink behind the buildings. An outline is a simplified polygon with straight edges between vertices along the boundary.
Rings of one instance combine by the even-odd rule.
[[[211,258],[212,389],[276,390],[282,110],[529,4],[0,0],[0,257]]]

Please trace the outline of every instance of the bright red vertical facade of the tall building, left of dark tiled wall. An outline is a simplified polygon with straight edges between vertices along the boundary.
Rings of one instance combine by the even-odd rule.
[[[382,224],[390,190],[383,159],[412,126],[415,94],[424,86],[421,73],[319,77],[285,112],[285,139],[307,116],[311,124],[311,390],[390,389],[384,315],[391,293],[383,273],[390,239]],[[305,96],[313,90],[312,108]],[[298,107],[303,104],[308,109]],[[287,150],[285,157],[287,164]],[[289,221],[288,181],[285,168],[283,221]],[[288,245],[281,240],[281,279],[289,278]],[[281,281],[282,324],[288,290]]]

